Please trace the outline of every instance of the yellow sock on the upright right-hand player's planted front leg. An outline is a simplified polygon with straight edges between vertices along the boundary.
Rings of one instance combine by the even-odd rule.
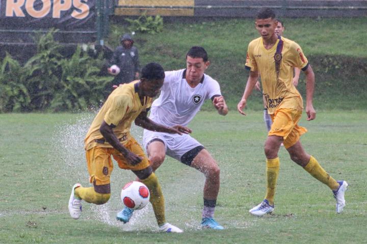
[[[274,205],[276,181],[279,174],[279,158],[267,159],[267,193],[265,199]]]

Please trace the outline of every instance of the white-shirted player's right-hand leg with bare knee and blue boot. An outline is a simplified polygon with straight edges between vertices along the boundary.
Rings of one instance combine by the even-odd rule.
[[[214,211],[220,187],[220,169],[217,162],[202,146],[196,147],[189,151],[187,154],[181,157],[181,160],[185,158],[187,159],[186,164],[199,170],[205,175],[203,190],[204,207],[202,210],[201,226],[204,228],[217,230],[224,229],[223,226],[219,225],[214,220]]]

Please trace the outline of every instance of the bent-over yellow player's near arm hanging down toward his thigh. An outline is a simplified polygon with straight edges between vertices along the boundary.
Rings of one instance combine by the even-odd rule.
[[[129,151],[120,143],[119,139],[112,130],[114,127],[115,126],[113,124],[108,125],[106,121],[103,120],[101,126],[99,127],[99,131],[104,137],[104,140],[106,140],[108,143],[110,143],[110,145],[118,150],[125,157],[127,162],[132,165],[139,164],[142,159],[136,154],[132,153],[132,151]]]

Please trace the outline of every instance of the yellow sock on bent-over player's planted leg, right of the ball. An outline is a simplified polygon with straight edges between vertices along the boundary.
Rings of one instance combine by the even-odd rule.
[[[158,182],[158,178],[154,173],[149,175],[148,178],[141,180],[149,189],[150,202],[153,206],[155,219],[159,226],[166,223],[165,217],[165,205],[164,197],[161,189],[161,185]]]

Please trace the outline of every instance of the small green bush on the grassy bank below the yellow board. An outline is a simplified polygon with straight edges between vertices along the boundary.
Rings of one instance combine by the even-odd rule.
[[[130,23],[129,29],[132,32],[156,34],[163,30],[163,18],[160,15],[146,16],[146,11],[137,19],[125,18],[125,20]]]

